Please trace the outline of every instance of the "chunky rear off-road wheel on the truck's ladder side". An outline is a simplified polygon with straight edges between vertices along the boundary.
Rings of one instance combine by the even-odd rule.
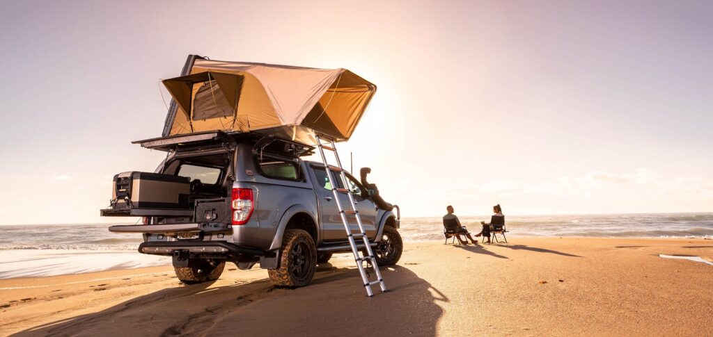
[[[268,269],[277,287],[304,287],[312,282],[317,269],[317,248],[306,230],[288,229],[282,237],[277,269]]]

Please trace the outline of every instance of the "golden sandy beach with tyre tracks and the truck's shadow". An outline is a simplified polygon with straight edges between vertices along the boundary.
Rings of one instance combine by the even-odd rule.
[[[364,296],[349,255],[312,285],[274,289],[262,269],[226,266],[184,286],[173,268],[0,280],[0,334],[18,336],[569,336],[713,334],[711,240],[513,238],[406,242]]]

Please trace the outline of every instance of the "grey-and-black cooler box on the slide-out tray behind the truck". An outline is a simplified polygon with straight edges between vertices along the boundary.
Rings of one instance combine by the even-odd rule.
[[[190,178],[170,174],[124,172],[114,176],[111,208],[190,208]]]

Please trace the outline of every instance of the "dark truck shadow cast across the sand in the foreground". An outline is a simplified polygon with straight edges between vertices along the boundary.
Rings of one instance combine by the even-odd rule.
[[[376,288],[371,298],[356,268],[322,264],[309,287],[277,289],[267,279],[175,287],[15,336],[434,336],[438,302],[448,298],[405,267],[381,267],[381,274],[389,291]]]

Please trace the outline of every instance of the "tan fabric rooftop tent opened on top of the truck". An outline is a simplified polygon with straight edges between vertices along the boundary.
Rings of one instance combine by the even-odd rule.
[[[339,69],[196,59],[190,75],[163,81],[178,103],[169,135],[265,132],[314,144],[346,141],[376,85]]]

